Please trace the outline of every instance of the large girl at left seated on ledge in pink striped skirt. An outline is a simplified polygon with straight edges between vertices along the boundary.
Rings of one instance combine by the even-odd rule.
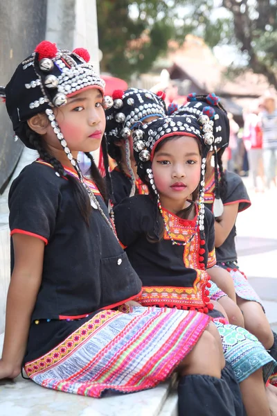
[[[114,233],[96,166],[87,180],[77,161],[105,131],[104,83],[88,61],[84,49],[42,42],[1,89],[15,134],[39,159],[10,188],[0,379],[23,366],[46,388],[101,397],[152,388],[177,370],[180,415],[242,416],[208,315],[132,302],[141,280]]]

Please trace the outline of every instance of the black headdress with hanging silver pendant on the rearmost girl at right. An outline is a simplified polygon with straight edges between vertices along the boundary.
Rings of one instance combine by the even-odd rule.
[[[188,103],[179,107],[175,114],[194,114],[201,116],[206,114],[213,120],[213,144],[206,144],[208,150],[212,150],[215,157],[215,202],[213,205],[213,213],[215,217],[219,217],[223,212],[223,204],[220,198],[220,187],[217,173],[217,150],[226,148],[229,145],[230,124],[227,112],[220,103],[220,98],[213,94],[197,95],[189,94]]]

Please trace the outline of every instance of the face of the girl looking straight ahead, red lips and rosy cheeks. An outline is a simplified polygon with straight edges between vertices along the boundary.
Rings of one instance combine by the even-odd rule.
[[[190,136],[166,141],[154,153],[154,183],[164,207],[171,201],[177,203],[177,210],[183,208],[180,203],[185,203],[199,184],[201,163],[197,139]]]

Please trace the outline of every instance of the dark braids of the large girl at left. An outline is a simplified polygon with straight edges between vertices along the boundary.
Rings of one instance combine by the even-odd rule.
[[[80,214],[84,218],[87,225],[89,225],[89,216],[91,214],[91,203],[89,200],[89,195],[87,191],[84,189],[83,185],[80,183],[78,179],[73,177],[72,175],[69,175],[64,171],[64,168],[60,161],[56,159],[54,156],[51,155],[51,153],[48,153],[45,147],[44,140],[42,139],[42,136],[39,135],[37,132],[32,130],[27,122],[22,122],[20,127],[15,132],[17,136],[24,137],[26,141],[30,141],[30,144],[32,144],[37,152],[39,153],[39,157],[41,157],[45,162],[51,164],[55,171],[59,173],[60,176],[66,177],[67,180],[69,180],[69,183],[71,184],[72,190],[73,190],[73,196],[75,199],[75,202],[78,206],[78,209],[80,210]],[[96,164],[93,161],[93,157],[86,153],[86,155],[89,155],[89,159],[91,160],[91,177],[93,181],[96,183],[96,186],[98,187],[100,193],[102,194],[103,198],[105,198],[105,202],[107,203],[107,196],[105,191],[105,182],[102,179],[98,168]]]

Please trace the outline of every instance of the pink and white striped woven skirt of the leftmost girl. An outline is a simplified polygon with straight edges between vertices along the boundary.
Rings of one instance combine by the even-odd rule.
[[[208,322],[195,311],[123,305],[97,313],[24,369],[39,385],[83,396],[153,388],[170,376]]]

